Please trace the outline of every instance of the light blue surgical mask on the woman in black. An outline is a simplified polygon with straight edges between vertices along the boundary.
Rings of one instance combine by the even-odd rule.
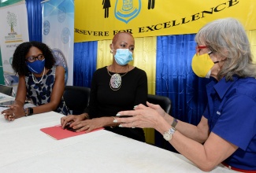
[[[126,65],[128,62],[132,61],[132,52],[128,49],[117,49],[114,55],[117,64]]]

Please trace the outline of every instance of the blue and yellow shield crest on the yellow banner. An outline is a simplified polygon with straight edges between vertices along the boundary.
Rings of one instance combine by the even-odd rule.
[[[117,0],[115,6],[115,17],[128,24],[128,22],[138,16],[141,9],[141,0]]]

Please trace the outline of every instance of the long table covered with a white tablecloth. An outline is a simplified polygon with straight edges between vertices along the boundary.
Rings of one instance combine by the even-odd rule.
[[[13,122],[0,116],[0,172],[202,172],[180,154],[106,130],[62,140],[39,130],[60,124],[61,116],[46,112]]]

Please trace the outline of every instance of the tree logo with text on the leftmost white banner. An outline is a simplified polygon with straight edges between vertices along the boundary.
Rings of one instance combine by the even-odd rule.
[[[5,36],[7,42],[22,42],[22,35],[18,35],[14,28],[17,26],[17,16],[15,13],[7,12],[7,24],[9,24],[10,32]]]

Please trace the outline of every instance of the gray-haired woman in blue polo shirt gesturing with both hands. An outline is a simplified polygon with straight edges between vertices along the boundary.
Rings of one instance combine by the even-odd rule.
[[[148,107],[118,112],[119,126],[154,128],[202,171],[222,163],[256,172],[256,66],[246,32],[236,19],[214,20],[198,31],[195,41],[192,69],[213,79],[206,86],[208,104],[198,125],[176,120],[147,102]]]

